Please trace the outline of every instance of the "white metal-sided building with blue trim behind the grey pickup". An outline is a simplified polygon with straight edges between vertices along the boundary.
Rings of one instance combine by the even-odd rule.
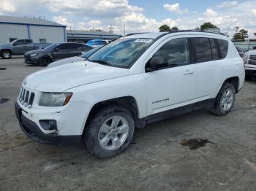
[[[0,43],[32,39],[35,43],[66,42],[66,26],[31,17],[0,15]]]

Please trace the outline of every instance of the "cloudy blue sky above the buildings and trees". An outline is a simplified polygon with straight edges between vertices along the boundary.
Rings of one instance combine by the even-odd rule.
[[[256,32],[256,0],[0,0],[0,15],[45,17],[67,29],[109,31],[116,34],[157,32],[166,24],[179,29],[214,23],[233,36],[235,27]]]

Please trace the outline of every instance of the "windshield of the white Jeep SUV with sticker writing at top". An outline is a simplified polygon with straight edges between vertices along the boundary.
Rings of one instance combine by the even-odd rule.
[[[128,69],[152,42],[152,39],[117,39],[91,55],[89,61]]]

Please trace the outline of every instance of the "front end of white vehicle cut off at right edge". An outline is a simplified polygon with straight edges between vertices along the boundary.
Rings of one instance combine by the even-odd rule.
[[[244,54],[246,79],[256,76],[256,50],[251,50]]]

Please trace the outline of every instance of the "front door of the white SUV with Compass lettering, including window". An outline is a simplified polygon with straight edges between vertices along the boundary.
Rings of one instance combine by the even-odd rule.
[[[148,115],[159,117],[170,109],[176,109],[176,114],[192,110],[196,78],[190,54],[187,38],[166,39],[151,53],[152,58],[162,58],[166,65],[145,73]],[[149,61],[146,68],[150,67]]]

